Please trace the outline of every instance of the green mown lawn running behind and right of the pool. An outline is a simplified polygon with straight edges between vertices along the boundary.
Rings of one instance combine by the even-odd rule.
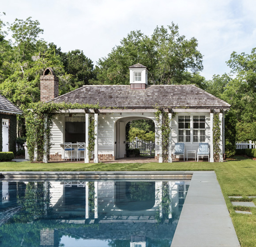
[[[229,195],[256,196],[256,161],[245,157],[223,163],[173,162],[173,163],[49,163],[1,162],[0,171],[209,171],[214,170],[226,200],[230,216],[241,247],[256,246],[256,209],[252,215],[237,214]],[[256,198],[252,200],[256,204]]]

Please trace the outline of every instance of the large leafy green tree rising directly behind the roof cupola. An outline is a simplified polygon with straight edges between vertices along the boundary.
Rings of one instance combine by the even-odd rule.
[[[188,75],[203,69],[197,40],[180,36],[178,26],[156,27],[151,37],[132,31],[114,47],[107,57],[98,61],[97,80],[100,84],[128,84],[128,67],[141,63],[148,67],[149,84],[181,84]],[[203,77],[197,77],[196,82]]]

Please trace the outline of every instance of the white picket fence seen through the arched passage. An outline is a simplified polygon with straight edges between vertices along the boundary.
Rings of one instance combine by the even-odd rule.
[[[155,144],[152,141],[147,142],[136,137],[132,142],[128,142],[128,146],[131,149],[138,148],[141,155],[155,154]]]

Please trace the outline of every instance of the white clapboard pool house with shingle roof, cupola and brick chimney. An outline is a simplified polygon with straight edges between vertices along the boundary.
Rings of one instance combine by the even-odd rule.
[[[185,158],[187,151],[196,153],[200,142],[208,143],[210,162],[214,161],[213,122],[217,113],[221,131],[219,160],[222,161],[225,153],[224,114],[230,109],[228,103],[195,85],[147,85],[148,70],[142,64],[135,64],[129,70],[130,85],[83,86],[59,97],[56,97],[58,78],[50,68],[45,70],[41,76],[41,101],[98,104],[98,109],[70,109],[56,113],[52,127],[54,145],[49,153],[51,161],[64,159],[65,142],[85,142],[87,149],[91,116],[95,123],[94,162],[125,157],[125,126],[139,119],[154,122],[155,160],[162,162],[162,114],[159,121],[155,115],[158,111],[156,108],[168,113],[170,120],[169,162],[172,162],[171,153],[177,142],[184,143]],[[76,157],[77,150],[74,152]],[[86,152],[85,162],[89,160]]]

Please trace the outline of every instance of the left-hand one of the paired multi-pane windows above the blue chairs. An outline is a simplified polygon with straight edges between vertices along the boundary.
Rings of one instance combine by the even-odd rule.
[[[190,142],[190,116],[178,116],[178,142]]]

